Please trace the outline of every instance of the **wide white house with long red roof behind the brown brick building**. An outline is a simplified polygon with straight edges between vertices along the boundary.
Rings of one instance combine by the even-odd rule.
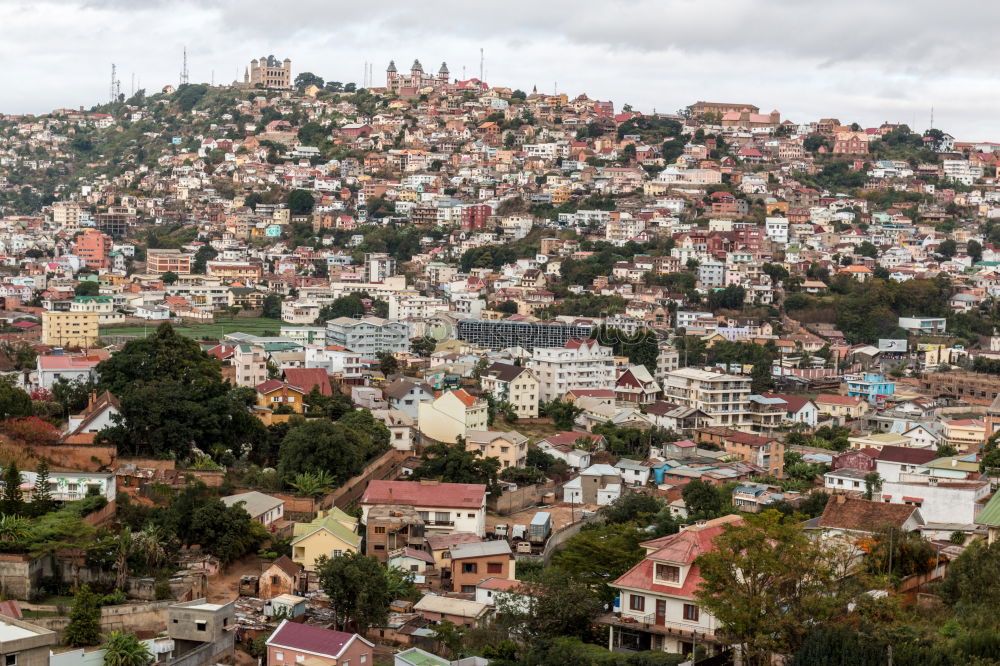
[[[403,505],[416,510],[428,535],[486,534],[486,486],[480,483],[374,480],[368,483],[359,504],[361,522],[366,525],[373,506]]]

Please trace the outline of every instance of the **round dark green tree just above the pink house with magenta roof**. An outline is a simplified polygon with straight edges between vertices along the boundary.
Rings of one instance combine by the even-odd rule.
[[[378,560],[360,553],[316,560],[319,584],[330,599],[334,625],[340,631],[364,634],[388,619],[389,583]]]

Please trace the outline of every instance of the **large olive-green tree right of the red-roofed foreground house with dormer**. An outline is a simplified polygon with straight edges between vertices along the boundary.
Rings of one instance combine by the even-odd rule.
[[[743,663],[764,666],[797,650],[808,631],[843,608],[836,557],[776,511],[744,517],[695,560],[699,605],[714,616]]]

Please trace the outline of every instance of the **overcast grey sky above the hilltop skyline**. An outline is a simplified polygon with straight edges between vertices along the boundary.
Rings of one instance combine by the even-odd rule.
[[[42,113],[190,79],[231,82],[251,58],[384,85],[420,58],[452,77],[674,111],[746,102],[793,121],[934,124],[1000,139],[1000,3],[958,0],[0,0],[0,112]]]

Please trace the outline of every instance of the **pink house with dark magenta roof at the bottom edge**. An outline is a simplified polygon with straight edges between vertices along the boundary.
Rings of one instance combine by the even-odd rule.
[[[373,647],[357,634],[282,620],[267,639],[267,666],[371,666]]]

